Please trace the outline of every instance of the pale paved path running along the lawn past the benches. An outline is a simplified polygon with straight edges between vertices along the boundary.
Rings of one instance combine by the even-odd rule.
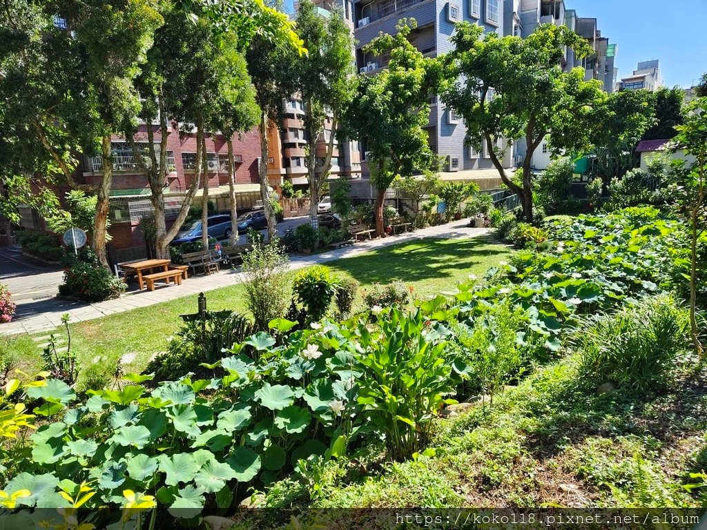
[[[304,267],[315,264],[326,263],[337,259],[349,258],[369,252],[374,249],[397,245],[402,242],[419,240],[424,237],[440,237],[443,239],[462,239],[466,237],[475,237],[489,232],[489,228],[469,228],[466,220],[455,221],[447,225],[433,226],[423,228],[407,234],[397,235],[394,237],[384,237],[382,239],[358,242],[356,245],[342,247],[340,249],[329,252],[322,252],[313,256],[291,256],[290,269],[303,269]],[[2,259],[7,259],[6,256],[0,255],[0,265],[4,266]],[[26,272],[27,269],[25,269]],[[5,271],[5,269],[3,269]],[[36,273],[37,271],[35,271]],[[16,271],[22,274],[22,271]],[[29,274],[29,273],[28,273]],[[57,271],[40,271],[40,274],[46,274],[47,285],[49,282],[61,282],[61,272]],[[57,276],[57,274],[59,276]],[[33,295],[30,297],[19,295],[16,297],[17,314],[15,319],[9,324],[0,325],[0,334],[35,334],[41,331],[52,331],[55,327],[61,324],[62,314],[69,313],[71,322],[82,322],[83,320],[96,319],[104,317],[107,314],[119,313],[135,309],[136,307],[146,307],[148,305],[167,302],[175,298],[184,296],[196,295],[209,290],[214,290],[227,285],[235,285],[242,283],[244,280],[243,274],[238,270],[225,270],[210,276],[194,276],[189,278],[181,286],[171,286],[158,288],[152,292],[142,290],[127,293],[117,300],[106,300],[95,304],[84,304],[81,302],[67,302],[57,298],[42,298],[42,295]],[[6,274],[3,273],[3,283],[6,281]],[[13,282],[13,285],[16,282]],[[42,284],[42,282],[39,282]],[[57,285],[56,283],[52,285]],[[14,287],[13,287],[14,288]],[[47,287],[49,290],[49,287]],[[42,291],[43,292],[43,291]],[[55,287],[54,287],[55,292]],[[18,291],[19,293],[19,291]],[[13,293],[14,295],[14,293]]]

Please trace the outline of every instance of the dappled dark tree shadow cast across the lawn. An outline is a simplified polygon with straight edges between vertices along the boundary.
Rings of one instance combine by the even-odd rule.
[[[377,249],[327,266],[351,274],[364,285],[395,278],[410,283],[450,278],[455,276],[455,272],[474,266],[488,268],[498,264],[498,259],[508,252],[510,249],[502,247],[491,237],[450,241],[426,239]]]

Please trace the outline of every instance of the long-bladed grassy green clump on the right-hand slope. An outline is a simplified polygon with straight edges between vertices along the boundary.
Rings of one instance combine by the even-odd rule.
[[[648,391],[665,386],[686,351],[688,330],[686,310],[672,296],[657,295],[588,318],[571,342],[581,358],[582,377]]]

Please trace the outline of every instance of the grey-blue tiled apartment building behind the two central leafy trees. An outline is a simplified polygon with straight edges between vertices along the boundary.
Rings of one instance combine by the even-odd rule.
[[[452,50],[450,37],[457,22],[467,20],[477,23],[487,32],[499,35],[503,35],[505,25],[503,0],[356,0],[354,16],[356,65],[365,75],[385,68],[390,57],[374,57],[370,53],[364,53],[363,47],[381,32],[395,33],[395,26],[401,18],[416,20],[417,28],[408,38],[425,57],[437,57]],[[464,146],[467,129],[463,120],[446,108],[438,98],[430,98],[429,103],[430,117],[425,129],[431,148],[445,159],[446,167],[442,177],[498,177],[485,148],[479,152]],[[362,150],[361,166],[366,178],[369,172],[365,142]],[[507,151],[508,155],[503,161],[510,167],[513,164],[513,157],[510,155],[512,149],[509,147]]]

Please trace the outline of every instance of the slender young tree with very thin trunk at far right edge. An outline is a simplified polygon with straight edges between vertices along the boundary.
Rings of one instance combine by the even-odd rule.
[[[684,124],[676,127],[673,151],[683,151],[694,162],[677,160],[682,168],[678,210],[690,229],[690,331],[696,353],[703,355],[696,319],[698,256],[697,247],[707,243],[707,98],[694,100],[687,108]]]

